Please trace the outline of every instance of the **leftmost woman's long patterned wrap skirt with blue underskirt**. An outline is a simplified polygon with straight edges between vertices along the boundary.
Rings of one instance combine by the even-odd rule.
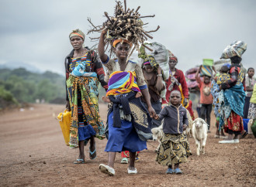
[[[78,141],[94,135],[105,138],[104,124],[99,116],[98,78],[69,76],[66,83],[72,111],[70,146],[76,147]]]

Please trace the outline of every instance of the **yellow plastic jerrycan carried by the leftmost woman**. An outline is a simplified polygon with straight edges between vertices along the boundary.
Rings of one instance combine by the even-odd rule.
[[[71,111],[64,110],[57,116],[57,120],[60,123],[61,131],[64,136],[64,141],[67,146],[69,146],[69,135],[71,126]]]

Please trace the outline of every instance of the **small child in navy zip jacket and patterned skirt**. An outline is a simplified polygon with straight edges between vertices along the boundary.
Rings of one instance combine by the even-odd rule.
[[[189,125],[189,121],[186,109],[181,104],[182,94],[178,90],[173,90],[169,100],[171,104],[164,107],[160,114],[155,117],[157,120],[164,119],[164,134],[161,145],[157,150],[156,161],[160,165],[168,166],[166,173],[182,174],[179,164],[188,162],[187,157],[192,155],[189,144],[182,134],[183,130]]]

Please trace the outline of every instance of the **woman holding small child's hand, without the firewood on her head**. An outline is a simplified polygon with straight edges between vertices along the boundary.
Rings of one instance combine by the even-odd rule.
[[[150,104],[150,96],[147,83],[144,80],[141,67],[137,63],[128,60],[128,54],[132,43],[126,39],[116,39],[112,47],[117,60],[109,59],[105,54],[104,37],[106,30],[102,31],[99,39],[99,58],[109,71],[109,90],[106,96],[112,101],[108,113],[106,134],[108,142],[105,151],[109,153],[108,165],[99,165],[102,172],[115,175],[114,162],[116,152],[130,151],[129,174],[137,173],[135,168],[135,156],[137,151],[147,148],[146,141],[150,138],[151,117],[155,112]],[[127,84],[129,86],[127,87]],[[139,94],[142,93],[147,110],[141,104]]]

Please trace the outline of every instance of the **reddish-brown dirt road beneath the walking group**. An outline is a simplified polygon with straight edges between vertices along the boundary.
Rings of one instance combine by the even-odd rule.
[[[154,162],[157,142],[149,141],[136,163],[137,175],[128,175],[128,165],[120,164],[116,155],[116,175],[99,171],[107,163],[106,140],[96,140],[97,158],[74,165],[78,149],[68,148],[54,114],[63,105],[34,104],[24,111],[12,110],[0,115],[0,185],[1,186],[255,186],[256,141],[241,139],[239,144],[220,145],[214,138],[215,118],[206,141],[206,154],[196,155],[195,141],[190,138],[192,156],[182,164],[183,175],[167,175],[167,167]],[[100,105],[106,121],[107,106]],[[213,115],[212,115],[213,116]]]

